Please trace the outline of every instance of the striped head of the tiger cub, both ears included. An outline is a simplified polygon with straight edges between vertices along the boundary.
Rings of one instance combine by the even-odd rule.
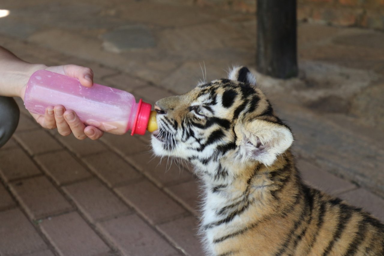
[[[248,68],[237,67],[228,79],[157,101],[154,153],[186,159],[215,178],[239,175],[250,165],[273,165],[293,135],[255,82]]]

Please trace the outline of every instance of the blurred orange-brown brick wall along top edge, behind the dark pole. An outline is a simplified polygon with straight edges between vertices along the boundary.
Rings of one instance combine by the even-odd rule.
[[[200,6],[256,12],[257,0],[194,0]],[[384,0],[297,0],[298,20],[384,30]],[[283,2],[283,0],[281,1]]]

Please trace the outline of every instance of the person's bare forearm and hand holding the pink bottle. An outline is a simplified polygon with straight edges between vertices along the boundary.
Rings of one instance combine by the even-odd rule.
[[[24,100],[26,84],[30,76],[41,69],[77,78],[85,87],[93,85],[93,71],[90,68],[77,65],[31,64],[0,46],[0,96],[20,97]],[[103,135],[103,131],[98,128],[85,126],[73,110],[66,110],[62,105],[47,107],[45,115],[30,114],[42,127],[46,129],[57,128],[60,135],[63,136],[73,133],[79,140],[87,137],[91,140],[97,140]]]

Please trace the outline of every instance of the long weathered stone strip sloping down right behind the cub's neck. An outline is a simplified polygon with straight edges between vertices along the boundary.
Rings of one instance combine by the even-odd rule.
[[[293,105],[282,108],[281,105],[276,110],[281,119],[289,120],[286,123],[295,135],[295,151],[314,159],[323,170],[384,195],[384,173],[381,171],[384,150],[359,133],[303,108]],[[364,129],[360,132],[364,133]]]

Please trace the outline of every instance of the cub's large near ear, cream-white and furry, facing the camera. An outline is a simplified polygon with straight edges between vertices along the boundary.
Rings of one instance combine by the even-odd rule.
[[[263,120],[253,120],[248,123],[243,127],[242,133],[240,153],[266,166],[272,165],[293,142],[293,135],[289,128]]]

